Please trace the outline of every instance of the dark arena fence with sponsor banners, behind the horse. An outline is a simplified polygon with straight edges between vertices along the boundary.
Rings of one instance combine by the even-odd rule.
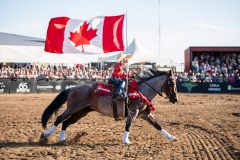
[[[0,93],[58,93],[67,88],[93,82],[95,80],[24,81],[17,79],[11,81],[0,79]],[[240,93],[240,84],[177,82],[177,89],[178,92],[185,93]]]

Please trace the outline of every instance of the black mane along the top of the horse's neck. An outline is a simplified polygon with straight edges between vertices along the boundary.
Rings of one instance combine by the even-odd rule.
[[[169,74],[169,72],[158,71],[158,70],[154,70],[154,69],[147,69],[144,71],[143,76],[137,77],[137,81],[138,81],[138,84],[141,84],[141,83],[144,83],[154,77],[158,77],[158,76],[162,76],[162,75],[166,75],[166,74]]]

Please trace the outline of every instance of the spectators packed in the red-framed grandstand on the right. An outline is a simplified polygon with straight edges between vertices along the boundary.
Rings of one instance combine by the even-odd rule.
[[[192,70],[178,73],[181,82],[240,83],[240,54],[214,56],[206,53],[195,56]]]

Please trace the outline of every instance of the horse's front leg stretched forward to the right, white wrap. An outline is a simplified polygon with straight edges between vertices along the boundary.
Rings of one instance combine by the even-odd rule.
[[[142,119],[149,122],[153,127],[160,131],[160,133],[170,141],[175,141],[176,137],[169,134],[167,131],[162,129],[161,125],[157,122],[154,116],[151,113],[145,113],[141,116]]]

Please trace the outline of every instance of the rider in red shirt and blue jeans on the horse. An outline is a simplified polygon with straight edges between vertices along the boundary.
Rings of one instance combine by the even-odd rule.
[[[126,79],[126,74],[123,70],[123,65],[127,62],[126,59],[123,59],[119,62],[117,62],[114,66],[114,70],[111,76],[111,81],[117,85],[117,94],[121,98],[125,97],[125,79]]]

